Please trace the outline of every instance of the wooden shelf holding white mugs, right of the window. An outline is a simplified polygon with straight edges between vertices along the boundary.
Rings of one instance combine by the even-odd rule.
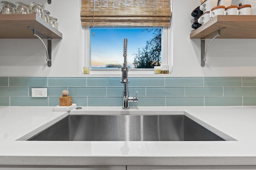
[[[221,29],[225,27],[225,29]],[[256,15],[218,15],[190,33],[190,38],[256,39]]]

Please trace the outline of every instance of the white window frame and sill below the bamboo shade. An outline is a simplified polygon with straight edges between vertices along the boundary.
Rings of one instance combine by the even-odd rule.
[[[94,76],[100,76],[100,75],[109,75],[109,76],[119,76],[121,74],[121,69],[120,68],[92,68],[91,69],[91,62],[90,62],[90,27],[89,26],[84,26],[82,28],[83,30],[83,37],[84,37],[84,41],[82,42],[83,45],[83,59],[81,60],[81,62],[83,64],[80,64],[81,67],[81,74],[83,74],[83,66],[90,66],[90,74],[86,74],[88,75],[94,75]],[[170,68],[170,47],[171,47],[171,39],[170,39],[170,35],[171,35],[171,31],[170,31],[170,27],[163,27],[162,29],[163,35],[162,35],[162,64],[168,64],[169,65],[169,70],[171,70]],[[150,75],[150,74],[154,74],[154,69],[153,68],[129,68],[129,76],[131,75]]]

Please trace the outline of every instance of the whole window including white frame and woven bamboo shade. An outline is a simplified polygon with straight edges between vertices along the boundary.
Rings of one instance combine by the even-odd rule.
[[[85,26],[85,64],[90,65],[95,70],[98,68],[118,70],[116,68],[119,68],[120,64],[122,66],[123,63],[122,46],[124,38],[128,39],[128,55],[130,56],[128,56],[130,58],[128,58],[128,65],[131,68],[130,70],[133,68],[136,68],[136,70],[140,70],[139,68],[151,70],[154,65],[168,64],[167,47],[169,46],[168,42],[170,42],[171,16],[171,0],[82,0],[81,23],[82,26]],[[115,37],[106,33],[108,31],[114,31],[115,34],[119,31],[129,33],[139,30],[140,33],[144,33],[146,36],[146,33],[150,33],[148,30],[151,30],[152,37],[152,33],[157,29],[160,29],[161,32],[161,45],[159,46],[161,50],[158,48],[153,52],[158,53],[154,54],[154,56],[158,56],[158,59],[152,57],[154,59],[147,62],[148,64],[144,64],[144,66],[142,66],[141,61],[145,59],[145,55],[148,55],[145,53],[149,53],[145,49],[151,48],[147,46],[150,41],[149,37],[148,43],[145,42],[144,45],[140,44],[131,48],[137,43],[137,41],[134,43],[134,37],[131,36],[136,35],[135,32],[128,35],[122,34],[123,36],[118,35],[118,42],[112,45],[110,43],[114,42]],[[107,41],[103,43],[105,39]],[[111,50],[106,53],[109,48]],[[103,55],[100,56],[100,53]],[[141,57],[143,54],[144,58]],[[105,61],[105,59],[108,60]]]

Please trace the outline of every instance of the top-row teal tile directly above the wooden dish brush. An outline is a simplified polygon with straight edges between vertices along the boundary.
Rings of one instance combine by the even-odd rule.
[[[48,86],[86,87],[86,78],[85,77],[49,77]]]

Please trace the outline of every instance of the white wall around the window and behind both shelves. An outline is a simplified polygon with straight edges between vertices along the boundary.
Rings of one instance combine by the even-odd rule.
[[[0,39],[0,76],[85,76],[80,74],[84,64],[80,0],[52,0],[50,5],[47,0],[36,2],[58,18],[58,29],[63,34],[63,39],[52,40],[52,66],[46,66],[46,53],[38,39]],[[202,68],[200,39],[190,39],[191,12],[200,0],[172,0],[172,5],[170,76],[256,76],[256,39],[214,40]]]

